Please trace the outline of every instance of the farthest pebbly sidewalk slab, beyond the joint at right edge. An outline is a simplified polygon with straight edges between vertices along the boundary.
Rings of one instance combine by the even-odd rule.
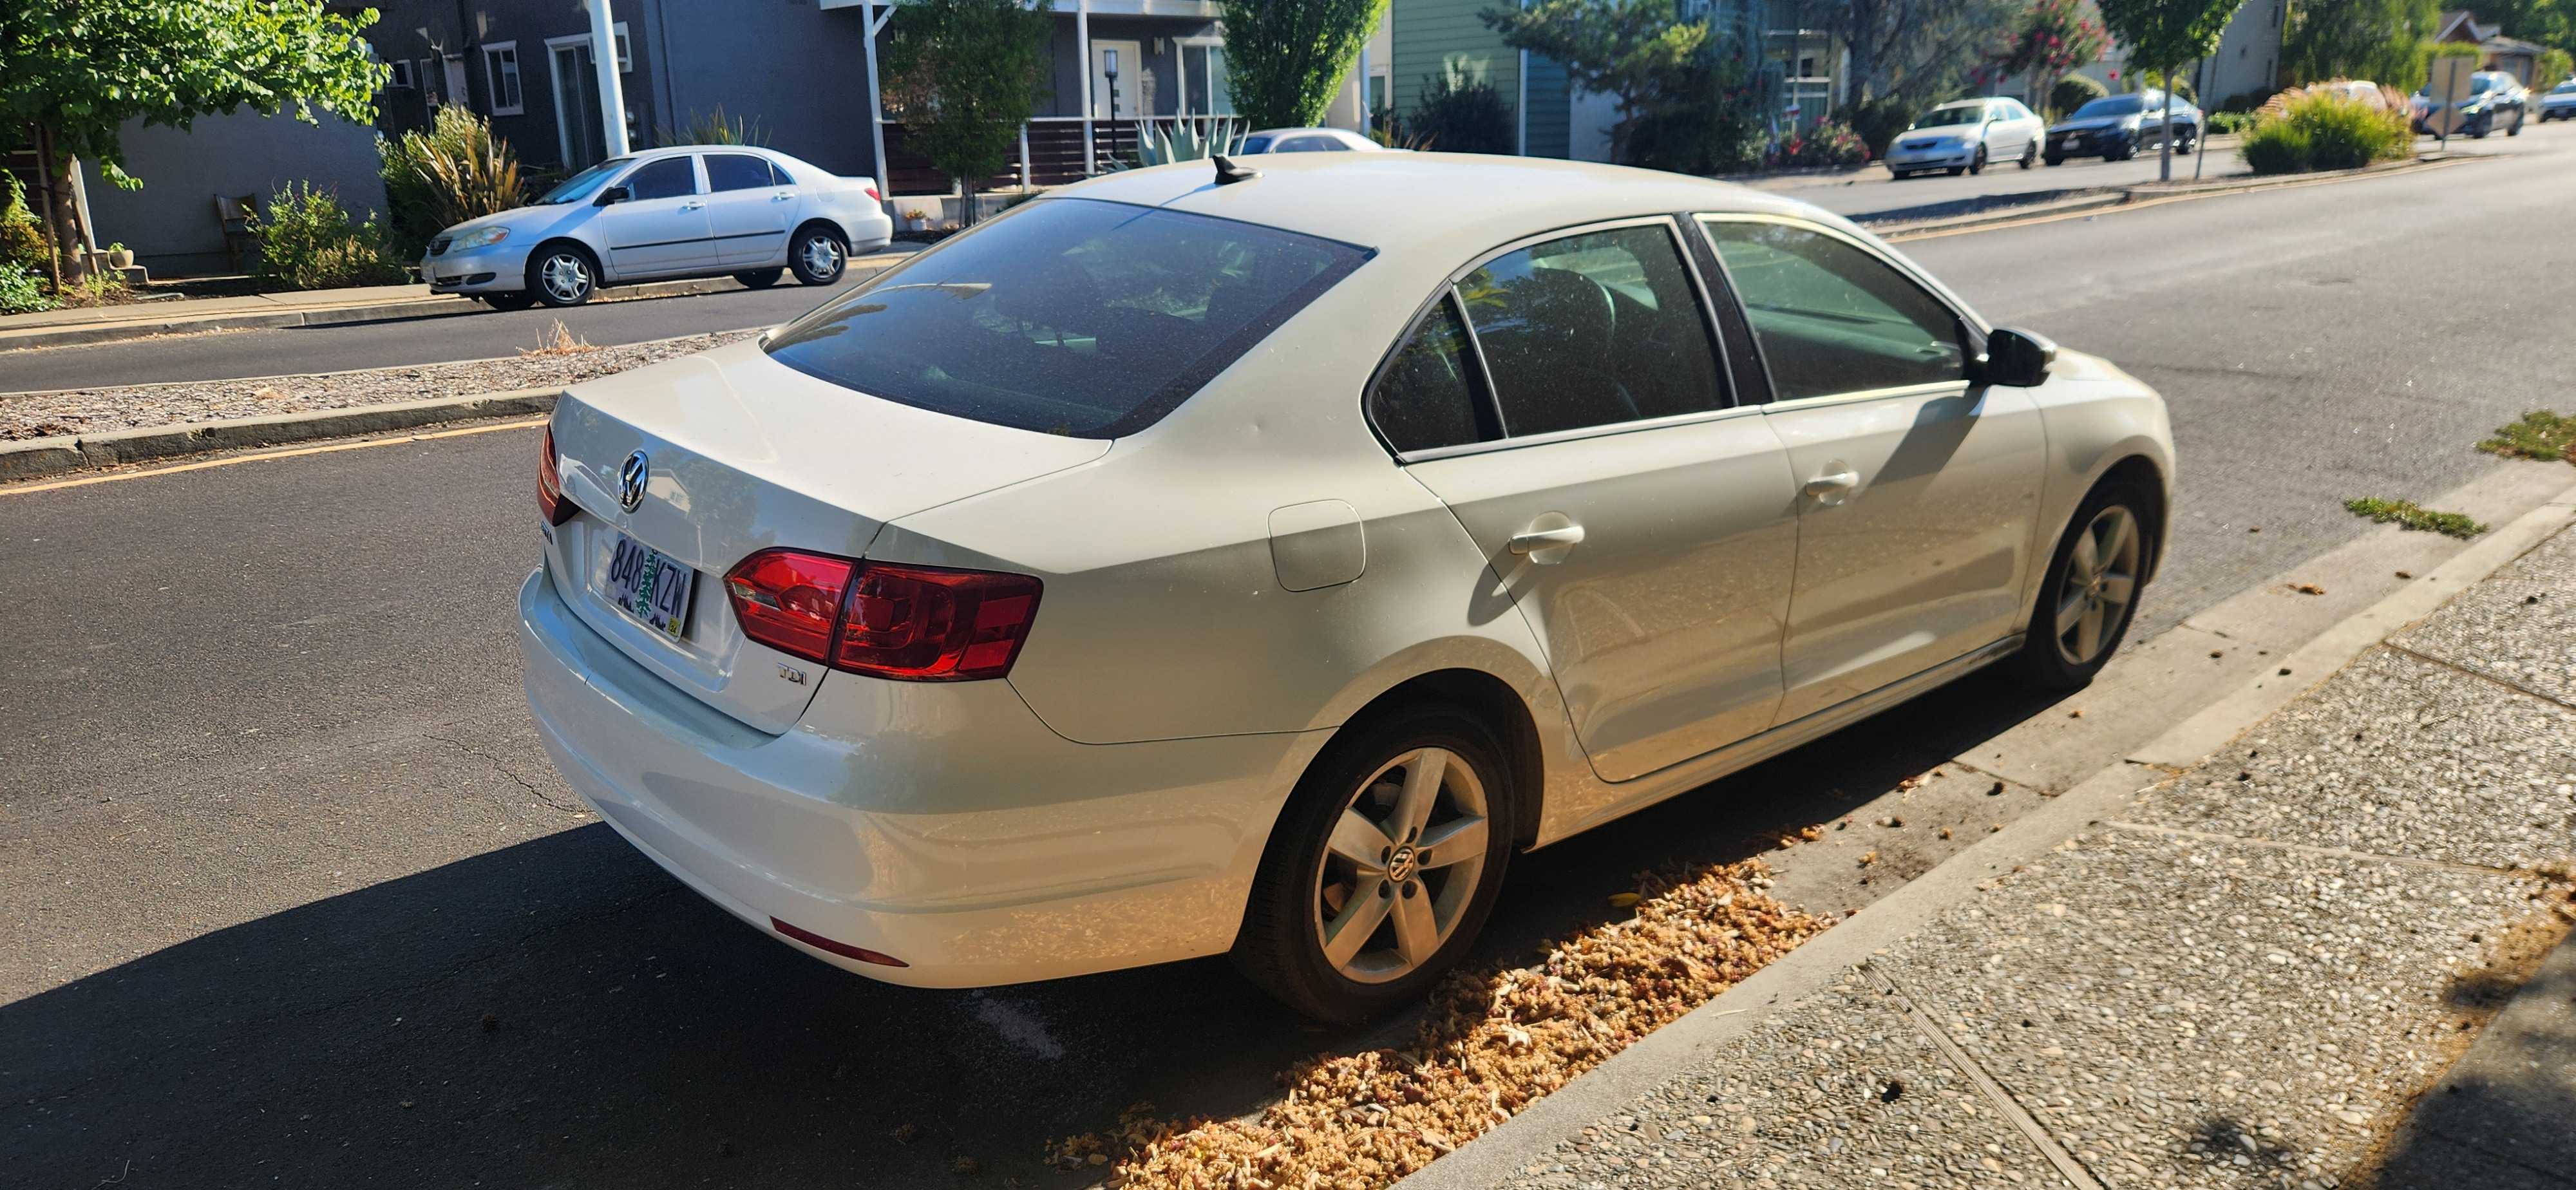
[[[2543,541],[2396,644],[2576,706],[2576,533]]]

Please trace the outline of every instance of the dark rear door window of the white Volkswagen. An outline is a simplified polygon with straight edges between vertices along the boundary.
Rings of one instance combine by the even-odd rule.
[[[1458,283],[1504,435],[1716,410],[1718,361],[1664,224],[1569,234]]]

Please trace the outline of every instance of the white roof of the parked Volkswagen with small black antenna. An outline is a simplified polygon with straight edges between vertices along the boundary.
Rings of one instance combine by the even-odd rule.
[[[1164,206],[1381,252],[1419,247],[1443,260],[1553,227],[1669,211],[1798,214],[1850,229],[1793,198],[1623,165],[1471,152],[1291,152],[1244,157],[1244,165],[1260,175],[1216,185],[1213,165],[1175,162],[1061,185],[1041,201]]]

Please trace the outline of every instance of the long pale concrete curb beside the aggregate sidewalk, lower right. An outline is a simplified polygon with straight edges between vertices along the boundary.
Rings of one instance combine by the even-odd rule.
[[[1481,1190],[1502,1185],[1512,1175],[1520,1175],[1522,1167],[1546,1159],[1558,1141],[1579,1133],[1587,1123],[1695,1069],[1703,1053],[1765,1023],[1770,1010],[1788,1007],[1819,992],[1852,966],[1868,963],[1886,945],[1922,930],[1981,881],[2004,876],[2045,855],[2058,842],[2099,822],[2123,798],[2169,780],[2174,768],[2200,762],[2290,698],[2352,665],[2352,659],[2398,628],[2421,621],[2452,595],[2476,587],[2488,574],[2540,546],[2571,520],[2576,520],[2576,487],[2558,492],[2548,505],[2524,513],[2486,541],[2455,554],[2424,577],[2326,628],[2290,657],[2282,657],[2282,667],[2298,675],[2316,675],[2313,680],[2249,680],[2236,695],[2221,698],[2208,711],[2184,719],[2138,747],[2130,760],[2094,773],[2040,811],[1989,835],[1914,883],[1868,907],[1860,917],[1844,920],[1814,943],[1790,950],[1788,958],[1754,971],[1752,979],[1726,989],[1682,1020],[1654,1030],[1546,1100],[1538,1100],[1499,1128],[1422,1167],[1396,1182],[1399,1190]]]

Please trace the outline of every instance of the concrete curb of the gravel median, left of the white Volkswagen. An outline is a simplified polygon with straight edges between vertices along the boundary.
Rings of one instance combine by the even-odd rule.
[[[422,402],[363,404],[355,410],[286,412],[276,417],[232,417],[222,422],[147,425],[88,435],[31,438],[0,443],[0,482],[46,479],[88,466],[144,464],[209,451],[309,443],[361,433],[410,430],[417,425],[513,417],[554,410],[562,386],[482,392],[471,397],[430,397]]]

